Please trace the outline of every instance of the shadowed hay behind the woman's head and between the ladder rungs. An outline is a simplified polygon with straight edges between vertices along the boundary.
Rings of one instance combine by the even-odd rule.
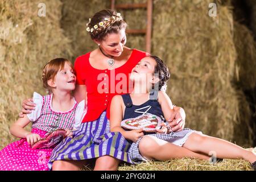
[[[69,1],[61,0],[63,2],[63,18],[61,18],[61,28],[65,31],[64,34],[72,40],[71,46],[73,48],[72,60],[88,51],[97,48],[97,45],[92,42],[88,32],[86,31],[86,23],[93,14],[102,9],[110,9],[110,1]],[[134,3],[141,1],[116,1],[116,3]],[[146,10],[118,10],[123,18],[128,23],[127,28],[145,28]],[[137,23],[140,19],[141,23]],[[75,28],[74,28],[75,27]],[[129,40],[126,46],[131,48],[145,49],[145,38],[143,35],[128,34]]]

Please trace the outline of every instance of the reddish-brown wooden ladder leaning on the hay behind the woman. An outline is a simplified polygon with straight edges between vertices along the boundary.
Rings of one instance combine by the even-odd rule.
[[[147,9],[147,26],[144,29],[129,29],[126,30],[127,34],[145,34],[146,35],[146,52],[151,52],[151,34],[152,34],[152,11],[153,2],[152,0],[147,0],[146,3],[126,3],[115,5],[115,0],[111,0],[112,10],[127,10],[127,9]]]

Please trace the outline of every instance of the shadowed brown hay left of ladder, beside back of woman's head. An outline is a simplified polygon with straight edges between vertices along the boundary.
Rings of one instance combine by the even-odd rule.
[[[97,44],[92,41],[86,31],[86,23],[97,11],[109,9],[110,1],[61,0],[61,2],[63,2],[61,28],[65,31],[64,35],[71,40],[72,60],[75,60],[77,56],[92,51],[97,47]]]

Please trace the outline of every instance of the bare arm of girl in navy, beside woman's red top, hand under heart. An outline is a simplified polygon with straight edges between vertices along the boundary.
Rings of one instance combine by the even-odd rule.
[[[114,96],[110,105],[110,131],[119,132],[126,139],[137,142],[139,137],[142,137],[143,129],[125,131],[121,127],[121,121],[123,120],[123,110],[122,110],[122,96]]]

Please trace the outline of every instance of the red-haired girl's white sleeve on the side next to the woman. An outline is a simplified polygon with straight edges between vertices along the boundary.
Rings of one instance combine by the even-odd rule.
[[[85,105],[85,100],[82,100],[81,102],[79,102],[79,104],[76,107],[75,124],[73,126],[73,130],[79,129],[82,119],[84,118],[86,112],[87,112],[87,108]]]

